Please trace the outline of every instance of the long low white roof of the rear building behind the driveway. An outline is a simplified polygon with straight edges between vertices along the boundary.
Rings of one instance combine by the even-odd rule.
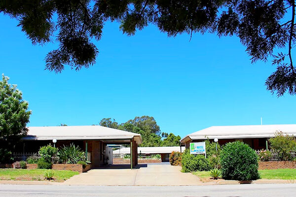
[[[185,147],[182,146],[182,152]],[[158,147],[138,147],[138,154],[159,154],[159,153],[172,153],[173,151],[180,152],[180,146],[158,146]],[[130,154],[130,147],[123,147],[113,151],[113,154]]]

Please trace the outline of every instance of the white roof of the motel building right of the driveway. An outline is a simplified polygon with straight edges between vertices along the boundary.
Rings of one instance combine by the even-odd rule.
[[[193,139],[240,139],[274,137],[276,131],[296,135],[296,125],[213,126],[186,135],[181,142]]]

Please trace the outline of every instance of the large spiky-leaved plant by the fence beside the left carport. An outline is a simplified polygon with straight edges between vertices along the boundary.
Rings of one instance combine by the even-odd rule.
[[[60,163],[63,164],[77,164],[79,161],[85,161],[85,152],[79,146],[75,147],[74,144],[61,148],[58,156]]]

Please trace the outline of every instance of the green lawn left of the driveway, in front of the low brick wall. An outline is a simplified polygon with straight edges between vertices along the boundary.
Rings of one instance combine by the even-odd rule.
[[[54,181],[63,182],[79,174],[70,170],[53,170]],[[43,181],[45,169],[0,169],[0,180]]]

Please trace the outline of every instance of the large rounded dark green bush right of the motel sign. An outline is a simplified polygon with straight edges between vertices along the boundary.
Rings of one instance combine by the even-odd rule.
[[[249,181],[259,179],[258,156],[240,141],[227,143],[220,154],[222,177],[228,180]]]

